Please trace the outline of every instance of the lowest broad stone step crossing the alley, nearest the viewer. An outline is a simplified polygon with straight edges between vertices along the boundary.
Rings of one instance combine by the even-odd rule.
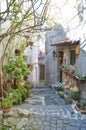
[[[69,118],[69,119],[86,119],[86,115],[80,113],[74,113],[72,107],[69,106],[37,106],[37,105],[25,105],[26,107],[21,107],[21,109],[27,109],[31,114],[35,115],[50,115],[57,116],[59,118]]]

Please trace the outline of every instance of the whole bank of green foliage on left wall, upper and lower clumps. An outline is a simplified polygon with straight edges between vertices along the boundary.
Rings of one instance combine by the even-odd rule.
[[[11,57],[9,63],[3,66],[3,70],[5,83],[11,79],[14,84],[13,87],[16,88],[11,91],[11,94],[6,89],[5,95],[13,100],[13,104],[21,104],[29,96],[29,90],[31,89],[28,83],[21,86],[21,83],[24,82],[24,77],[28,77],[31,72],[28,68],[26,57],[24,55]],[[8,104],[6,105],[4,106],[5,108],[8,107]]]

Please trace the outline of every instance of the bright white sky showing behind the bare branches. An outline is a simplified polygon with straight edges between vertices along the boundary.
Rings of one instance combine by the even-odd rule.
[[[5,0],[0,0],[0,2],[2,3],[1,7],[2,10],[5,10]],[[40,1],[37,2],[35,9],[39,6]],[[43,0],[44,2],[46,2],[46,0]],[[76,8],[73,8],[73,6],[76,5],[76,0],[69,0],[70,2],[67,4],[65,4],[66,0],[51,0],[51,2],[49,3],[49,8],[47,10],[47,16],[48,19],[47,20],[47,26],[54,26],[55,24],[61,24],[64,28],[74,28],[75,25],[77,26],[78,23],[78,18],[74,18],[73,20],[71,20],[72,17],[74,17],[74,15],[77,13]],[[26,5],[27,6],[27,5]],[[41,7],[38,9],[37,14],[40,14],[43,8],[43,4],[41,5]],[[71,26],[72,25],[72,26]],[[69,35],[73,35],[72,37],[74,37],[73,33],[69,33]],[[42,40],[43,36],[42,36]],[[40,42],[42,41],[40,40]],[[44,45],[43,45],[44,46]]]

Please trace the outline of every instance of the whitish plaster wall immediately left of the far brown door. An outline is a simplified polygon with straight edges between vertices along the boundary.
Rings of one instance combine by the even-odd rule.
[[[29,75],[29,81],[31,83],[39,82],[38,53],[39,53],[39,47],[35,44],[32,46],[32,49],[28,47],[25,50],[25,54],[28,57],[28,62],[33,66],[32,73]]]

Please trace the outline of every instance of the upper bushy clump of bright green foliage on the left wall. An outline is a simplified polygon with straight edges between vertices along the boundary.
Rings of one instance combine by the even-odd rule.
[[[11,59],[12,60],[12,59]],[[28,68],[27,63],[23,56],[16,56],[15,61],[11,61],[3,66],[4,79],[7,81],[11,79],[18,79],[23,81],[24,76],[29,75],[31,70]]]

